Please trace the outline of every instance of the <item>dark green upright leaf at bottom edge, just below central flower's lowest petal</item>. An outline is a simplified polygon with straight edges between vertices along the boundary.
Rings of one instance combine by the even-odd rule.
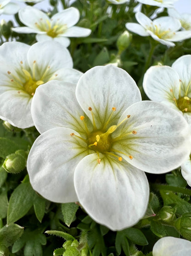
[[[127,240],[126,236],[124,235],[123,231],[117,232],[117,235],[115,238],[115,248],[116,248],[118,255],[121,254],[121,250],[123,249],[125,255],[130,256],[129,243],[128,243],[128,240]]]

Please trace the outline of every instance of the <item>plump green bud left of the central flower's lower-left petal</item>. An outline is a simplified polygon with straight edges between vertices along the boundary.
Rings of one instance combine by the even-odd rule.
[[[11,155],[7,155],[3,168],[8,173],[20,173],[27,164],[27,153],[20,149]]]

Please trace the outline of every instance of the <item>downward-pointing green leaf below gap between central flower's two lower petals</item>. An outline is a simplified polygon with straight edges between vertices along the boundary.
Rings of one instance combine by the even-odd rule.
[[[79,205],[75,202],[68,202],[62,204],[62,214],[64,217],[64,222],[67,226],[70,226],[70,224],[72,223],[78,208]]]

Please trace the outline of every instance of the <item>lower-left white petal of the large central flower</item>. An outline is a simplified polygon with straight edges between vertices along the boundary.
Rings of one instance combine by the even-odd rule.
[[[87,152],[83,141],[70,136],[72,132],[75,131],[67,128],[46,131],[36,139],[28,155],[31,185],[41,196],[53,202],[78,201],[73,173]]]

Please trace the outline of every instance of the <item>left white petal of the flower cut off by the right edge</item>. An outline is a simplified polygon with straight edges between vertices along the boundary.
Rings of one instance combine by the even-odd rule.
[[[174,102],[174,98],[179,98],[179,79],[178,73],[169,66],[152,66],[144,75],[143,88],[152,101]]]

